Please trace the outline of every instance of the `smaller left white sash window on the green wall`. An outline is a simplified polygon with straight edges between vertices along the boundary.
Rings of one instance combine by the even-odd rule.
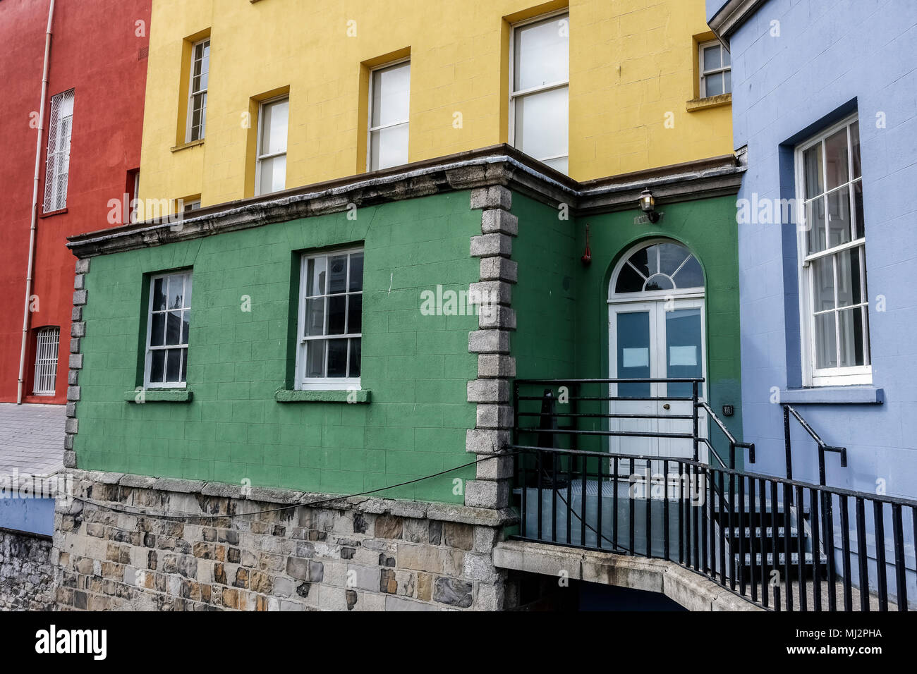
[[[149,282],[147,388],[182,388],[188,377],[191,271],[154,276]]]

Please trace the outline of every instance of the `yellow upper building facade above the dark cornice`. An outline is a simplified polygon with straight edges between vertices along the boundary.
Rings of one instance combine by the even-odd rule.
[[[704,0],[153,0],[139,196],[253,196],[260,104],[278,95],[286,188],[367,171],[370,72],[408,58],[408,161],[512,142],[512,27],[564,10],[570,177],[732,151],[729,96],[700,94]],[[192,139],[203,40],[205,130]]]

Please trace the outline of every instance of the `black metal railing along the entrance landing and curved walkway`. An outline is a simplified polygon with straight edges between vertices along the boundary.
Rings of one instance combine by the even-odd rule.
[[[665,395],[643,398],[691,401],[691,414],[615,412],[612,401],[636,398],[613,392],[612,385],[637,382],[674,383],[679,391],[691,384],[691,396],[668,395],[667,386]],[[517,380],[513,450],[520,528],[514,537],[667,559],[778,611],[907,610],[908,597],[917,598],[917,501],[741,470],[736,448],[747,448],[754,462],[754,444],[735,439],[700,399],[701,384]],[[588,385],[607,390],[586,395]],[[542,387],[540,394],[525,391],[533,386]],[[701,410],[722,432],[726,460],[706,437]],[[634,431],[610,423],[662,418],[691,428]],[[641,454],[622,451],[623,445],[612,451],[609,438],[615,436],[623,438],[619,445],[657,438],[669,451]],[[699,457],[701,445],[709,460]]]

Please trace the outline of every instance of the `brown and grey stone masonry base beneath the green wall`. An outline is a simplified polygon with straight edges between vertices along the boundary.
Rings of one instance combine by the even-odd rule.
[[[81,470],[73,491],[51,552],[61,610],[504,608],[492,550],[509,511],[359,497],[285,507],[331,497]]]

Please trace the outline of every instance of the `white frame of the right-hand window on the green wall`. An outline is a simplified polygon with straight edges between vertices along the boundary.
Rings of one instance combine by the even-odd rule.
[[[351,391],[359,390],[360,388],[360,378],[359,377],[311,377],[306,378],[305,376],[305,356],[306,356],[306,342],[315,341],[319,339],[347,339],[348,340],[348,367],[350,362],[350,339],[359,337],[360,340],[363,338],[363,333],[349,333],[347,335],[327,335],[328,329],[328,311],[327,311],[327,301],[325,303],[325,325],[322,328],[322,335],[315,335],[311,337],[304,336],[304,326],[305,326],[305,301],[306,301],[306,288],[308,283],[308,262],[309,260],[317,260],[320,258],[333,258],[338,255],[348,255],[348,283],[350,279],[350,258],[349,255],[352,253],[364,253],[364,269],[365,269],[365,260],[366,255],[362,247],[348,248],[348,249],[332,249],[332,250],[323,250],[320,252],[314,253],[303,253],[300,259],[300,271],[299,271],[299,312],[296,319],[296,381],[293,386],[294,389],[298,391]],[[327,265],[326,265],[327,269]],[[323,297],[328,297],[327,286],[326,292],[321,295]],[[363,285],[360,283],[359,293],[348,292],[345,293],[349,295],[362,295],[363,294]],[[313,297],[318,297],[319,295],[313,295]],[[349,304],[348,304],[349,306]],[[347,309],[345,309],[345,314]],[[362,321],[360,321],[362,323]],[[327,370],[327,345],[325,352],[325,367]],[[360,371],[362,372],[362,355],[360,356]]]

